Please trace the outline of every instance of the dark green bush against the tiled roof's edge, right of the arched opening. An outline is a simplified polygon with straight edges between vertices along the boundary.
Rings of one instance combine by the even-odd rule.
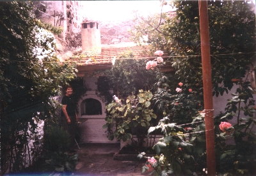
[[[104,87],[109,89],[113,87],[114,94],[118,97],[124,98],[129,94],[137,94],[140,89],[150,90],[156,82],[156,73],[145,70],[147,60],[133,58],[132,52],[123,53],[116,59],[115,65],[110,70],[100,71],[100,74],[108,80],[108,85]],[[98,89],[100,89],[99,84]],[[103,91],[106,89],[101,92]]]

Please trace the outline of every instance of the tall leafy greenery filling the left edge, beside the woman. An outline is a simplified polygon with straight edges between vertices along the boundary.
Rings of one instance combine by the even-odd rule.
[[[0,2],[1,168],[22,169],[32,117],[55,115],[54,96],[76,77],[76,64],[60,63],[54,55],[54,37],[40,28],[31,1]],[[56,32],[60,32],[55,30]],[[24,131],[24,133],[20,133]],[[26,149],[26,148],[25,148]]]

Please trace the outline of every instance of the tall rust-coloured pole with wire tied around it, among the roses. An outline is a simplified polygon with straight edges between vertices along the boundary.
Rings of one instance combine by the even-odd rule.
[[[211,56],[207,1],[198,1],[200,18],[200,38],[204,86],[205,138],[207,155],[207,175],[216,175],[215,136],[212,103]]]

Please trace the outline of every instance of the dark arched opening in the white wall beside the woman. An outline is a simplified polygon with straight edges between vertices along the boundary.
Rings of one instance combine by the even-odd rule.
[[[81,115],[102,115],[100,101],[93,98],[84,99],[81,103]]]

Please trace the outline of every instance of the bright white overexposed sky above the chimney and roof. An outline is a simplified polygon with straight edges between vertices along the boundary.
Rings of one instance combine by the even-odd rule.
[[[132,11],[143,14],[161,12],[159,1],[81,1],[84,3],[84,17],[88,20],[126,20],[134,17]],[[170,11],[170,5],[163,6],[163,11]]]

